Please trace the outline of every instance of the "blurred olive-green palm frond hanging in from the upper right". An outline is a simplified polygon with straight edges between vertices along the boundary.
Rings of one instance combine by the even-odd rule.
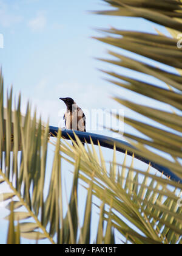
[[[115,73],[101,70],[105,74],[113,77],[113,79],[106,79],[112,84],[124,90],[132,91],[141,97],[145,96],[166,104],[166,107],[161,110],[157,107],[153,107],[153,105],[149,107],[144,104],[136,104],[135,102],[120,97],[114,98],[121,105],[133,110],[133,112],[143,115],[144,118],[150,118],[152,121],[155,121],[155,126],[151,126],[148,119],[146,119],[146,122],[141,122],[140,120],[129,118],[128,116],[125,117],[125,123],[134,127],[144,135],[144,137],[138,137],[127,132],[124,133],[124,136],[130,140],[130,143],[138,149],[138,151],[135,151],[135,154],[139,154],[150,160],[155,160],[159,165],[170,168],[178,177],[181,177],[182,80],[181,76],[175,71],[175,69],[177,69],[178,73],[181,74],[182,70],[181,51],[177,48],[177,37],[181,30],[182,21],[181,2],[170,0],[163,2],[153,1],[152,3],[147,0],[114,0],[104,2],[107,2],[112,10],[97,12],[98,14],[144,18],[166,26],[170,34],[174,37],[167,37],[160,32],[158,32],[158,34],[149,34],[135,32],[134,30],[120,30],[112,27],[110,29],[100,29],[99,31],[104,33],[104,36],[96,37],[96,39],[116,46],[116,48],[125,49],[147,58],[144,62],[141,62],[140,60],[126,57],[123,54],[109,51],[108,53],[112,59],[99,60],[138,71],[141,76],[147,74],[167,84],[166,88],[164,88],[164,86],[162,87],[159,84],[152,84],[148,81],[144,82],[143,79],[137,80],[133,77],[126,77],[119,72]],[[166,7],[164,7],[164,5]],[[157,65],[160,66],[161,64],[167,65],[167,70],[171,71],[151,65],[149,63],[150,60],[158,62]],[[172,113],[166,111],[167,106],[172,110]],[[117,116],[117,118],[119,117]],[[158,153],[154,154],[151,148],[165,153],[166,158],[161,157]],[[172,159],[177,159],[178,162],[169,160],[167,156],[172,157]]]

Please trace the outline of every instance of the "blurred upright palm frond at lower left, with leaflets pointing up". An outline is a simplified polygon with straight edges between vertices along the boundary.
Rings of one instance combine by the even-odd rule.
[[[6,206],[10,210],[10,215],[5,217],[9,221],[7,243],[18,243],[20,235],[27,240],[47,239],[52,244],[92,243],[92,180],[89,182],[86,208],[82,210],[85,221],[81,227],[78,208],[79,157],[74,164],[73,181],[70,183],[72,192],[65,205],[61,130],[56,138],[50,180],[45,183],[48,175],[49,125],[44,126],[41,119],[37,120],[36,113],[32,118],[29,104],[25,116],[21,115],[21,96],[13,110],[12,90],[7,94],[7,108],[4,108],[2,74],[0,80],[0,124],[3,128],[0,132],[0,185],[6,183],[12,190],[11,193],[1,194],[0,199],[7,203],[15,200]],[[78,143],[81,144],[80,141]],[[15,221],[18,221],[16,227]],[[104,222],[104,216],[100,217],[100,221]],[[101,233],[98,229],[98,240],[103,241],[105,235],[104,231]],[[107,243],[112,243],[113,237],[112,232],[107,234]]]

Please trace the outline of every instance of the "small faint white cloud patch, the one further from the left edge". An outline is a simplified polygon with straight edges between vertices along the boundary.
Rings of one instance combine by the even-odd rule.
[[[28,26],[35,32],[43,30],[46,24],[47,19],[45,17],[45,12],[39,12],[35,18],[29,21]]]

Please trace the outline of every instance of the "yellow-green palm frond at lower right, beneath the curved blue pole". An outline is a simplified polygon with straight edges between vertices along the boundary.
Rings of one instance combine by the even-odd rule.
[[[62,158],[72,165],[75,164],[75,155],[79,155],[79,178],[86,183],[93,180],[93,196],[103,202],[101,206],[97,205],[101,209],[100,214],[103,215],[104,211],[108,225],[111,221],[111,226],[127,237],[130,243],[178,243],[182,235],[182,219],[178,215],[181,214],[178,205],[182,188],[180,183],[155,176],[150,173],[150,168],[144,172],[135,169],[133,164],[130,167],[119,165],[115,151],[109,168],[101,149],[100,162],[95,160],[94,150],[82,152],[83,149],[76,144],[72,147],[67,142],[61,143],[60,150],[69,155],[69,158]],[[102,230],[103,222],[99,221],[99,232]]]

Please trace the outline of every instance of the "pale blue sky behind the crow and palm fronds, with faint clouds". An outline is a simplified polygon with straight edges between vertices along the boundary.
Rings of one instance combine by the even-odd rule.
[[[87,12],[106,8],[107,6],[99,0],[0,0],[0,34],[4,35],[4,49],[0,49],[0,65],[5,88],[13,84],[16,95],[21,91],[23,111],[27,100],[30,99],[42,114],[44,121],[49,116],[50,124],[58,126],[58,113],[64,107],[59,101],[60,97],[70,96],[80,107],[89,110],[121,108],[109,98],[115,94],[134,99],[134,94],[101,79],[103,74],[97,68],[122,71],[123,74],[140,79],[147,76],[93,59],[107,57],[106,49],[115,49],[93,40],[91,37],[99,35],[93,28],[113,26],[119,29],[155,32],[154,24],[139,18],[99,16]],[[155,27],[166,33],[164,28],[157,25]],[[121,52],[131,55],[127,51]],[[150,77],[150,82],[158,81]],[[160,82],[158,84],[163,85]],[[147,98],[141,102],[140,96],[135,96],[135,101],[150,105],[154,103]],[[158,105],[162,106],[163,104]],[[124,111],[125,115],[137,116],[126,108]],[[110,158],[110,152],[104,152],[106,157]],[[141,163],[140,167],[146,168]],[[7,214],[0,208],[0,217],[5,213]],[[0,225],[0,243],[4,243],[7,226],[2,220]]]

